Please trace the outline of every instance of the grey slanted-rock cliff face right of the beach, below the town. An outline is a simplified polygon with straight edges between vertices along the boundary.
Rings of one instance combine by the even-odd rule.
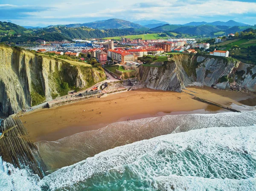
[[[162,67],[141,66],[138,78],[148,88],[181,92],[195,83],[221,89],[256,91],[256,66],[232,58],[177,54]],[[235,88],[233,85],[235,84]]]

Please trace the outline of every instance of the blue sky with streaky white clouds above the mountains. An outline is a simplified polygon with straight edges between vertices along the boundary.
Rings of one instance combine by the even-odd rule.
[[[235,20],[256,24],[256,0],[0,0],[0,21],[21,26],[118,18],[171,24]]]

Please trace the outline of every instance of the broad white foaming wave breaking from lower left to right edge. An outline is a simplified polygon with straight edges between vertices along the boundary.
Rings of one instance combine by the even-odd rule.
[[[129,171],[142,179],[172,175],[201,177],[206,179],[204,182],[216,179],[225,183],[229,181],[223,180],[233,179],[243,182],[247,188],[250,184],[255,186],[255,140],[255,126],[208,128],[164,135],[104,151],[55,171],[41,183],[50,190],[76,190],[74,182],[79,184],[110,171],[122,174],[128,166]],[[247,179],[252,181],[244,181]]]

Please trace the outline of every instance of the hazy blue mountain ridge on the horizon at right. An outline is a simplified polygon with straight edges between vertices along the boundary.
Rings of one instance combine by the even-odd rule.
[[[184,26],[200,26],[200,25],[212,25],[212,26],[250,26],[244,23],[239,23],[234,20],[229,20],[227,22],[222,22],[222,21],[215,21],[212,23],[207,23],[207,22],[191,22],[191,23],[186,23]]]

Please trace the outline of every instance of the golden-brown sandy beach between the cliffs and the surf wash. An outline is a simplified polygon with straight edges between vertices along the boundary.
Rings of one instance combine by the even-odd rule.
[[[197,97],[221,105],[242,105],[241,100],[255,100],[255,95],[243,92],[188,88]],[[180,97],[180,98],[179,98]],[[221,108],[191,99],[186,93],[139,89],[108,97],[94,98],[56,108],[41,109],[20,117],[32,142],[54,141],[83,131],[105,127],[111,123],[157,117],[167,114],[216,113]],[[234,105],[236,104],[236,105]],[[237,106],[239,107],[239,106]],[[240,108],[243,108],[240,106]],[[237,108],[236,108],[237,109]],[[92,111],[93,110],[93,111]]]

